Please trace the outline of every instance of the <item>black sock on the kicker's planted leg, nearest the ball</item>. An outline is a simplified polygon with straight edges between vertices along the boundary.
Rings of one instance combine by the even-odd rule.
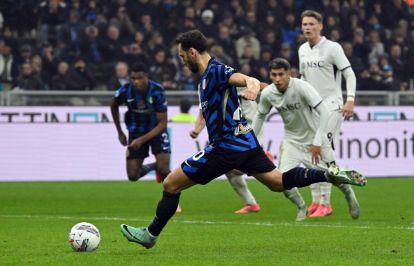
[[[175,214],[179,200],[180,193],[172,194],[166,191],[163,192],[162,199],[158,202],[157,211],[155,212],[156,216],[148,226],[148,231],[151,235],[158,236],[161,233],[164,226]]]

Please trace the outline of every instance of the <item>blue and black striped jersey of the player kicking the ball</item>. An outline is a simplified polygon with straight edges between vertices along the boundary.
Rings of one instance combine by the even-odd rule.
[[[246,151],[258,147],[251,126],[242,116],[235,86],[229,84],[235,70],[217,59],[209,61],[200,78],[200,109],[206,121],[210,144]]]

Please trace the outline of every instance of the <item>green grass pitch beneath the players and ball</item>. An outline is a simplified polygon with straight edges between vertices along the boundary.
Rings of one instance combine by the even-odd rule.
[[[334,213],[295,223],[281,193],[248,182],[262,206],[242,206],[227,181],[185,191],[176,214],[150,250],[129,243],[119,225],[147,226],[161,196],[155,182],[0,183],[1,265],[412,265],[414,179],[370,179],[355,188],[362,206],[353,221],[333,189]],[[309,203],[309,189],[301,189]],[[96,252],[73,252],[70,228],[95,224]]]

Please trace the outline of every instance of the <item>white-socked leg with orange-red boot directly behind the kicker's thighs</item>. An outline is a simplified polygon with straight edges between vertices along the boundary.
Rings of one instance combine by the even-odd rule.
[[[250,192],[243,175],[244,173],[237,170],[232,170],[226,173],[227,180],[229,180],[234,191],[236,191],[236,193],[243,199],[245,204],[243,208],[235,211],[234,213],[245,214],[249,212],[258,212],[260,211],[260,205],[257,204],[256,199]]]

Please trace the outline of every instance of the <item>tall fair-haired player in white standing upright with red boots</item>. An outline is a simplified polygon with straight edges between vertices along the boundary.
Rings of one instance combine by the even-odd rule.
[[[342,116],[352,117],[356,90],[356,77],[342,47],[321,36],[322,15],[313,10],[302,13],[302,31],[307,42],[299,48],[299,72],[303,80],[312,84],[322,96],[330,116],[328,136],[332,147],[339,140]],[[342,99],[341,76],[345,77],[347,99]],[[322,217],[332,213],[330,204],[332,185],[311,185],[312,204],[308,208],[310,217]]]

